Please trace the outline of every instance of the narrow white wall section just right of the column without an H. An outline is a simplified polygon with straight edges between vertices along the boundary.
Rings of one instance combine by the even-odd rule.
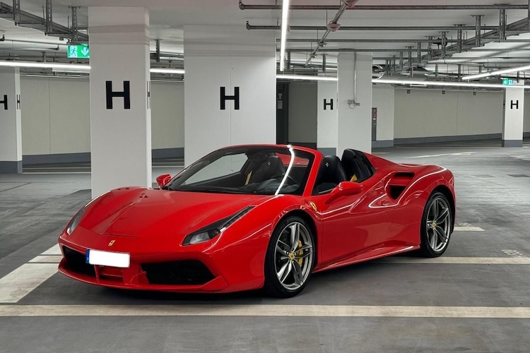
[[[394,87],[391,85],[372,86],[372,107],[377,108],[377,140],[393,141]]]

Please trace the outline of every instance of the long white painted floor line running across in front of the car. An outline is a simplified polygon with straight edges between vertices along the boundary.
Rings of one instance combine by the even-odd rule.
[[[528,307],[346,305],[0,305],[0,317],[297,316],[394,318],[530,318]]]

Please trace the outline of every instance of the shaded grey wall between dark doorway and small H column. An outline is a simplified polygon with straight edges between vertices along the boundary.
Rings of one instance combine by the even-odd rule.
[[[289,83],[289,143],[317,143],[317,83]]]

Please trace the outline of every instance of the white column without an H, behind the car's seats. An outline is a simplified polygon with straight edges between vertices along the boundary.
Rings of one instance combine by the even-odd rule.
[[[356,57],[355,57],[356,56]],[[372,150],[372,55],[338,54],[337,154]]]

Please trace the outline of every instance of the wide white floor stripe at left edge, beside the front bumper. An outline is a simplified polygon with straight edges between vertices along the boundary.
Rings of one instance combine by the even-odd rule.
[[[57,273],[57,263],[25,263],[0,278],[0,303],[16,303]]]

